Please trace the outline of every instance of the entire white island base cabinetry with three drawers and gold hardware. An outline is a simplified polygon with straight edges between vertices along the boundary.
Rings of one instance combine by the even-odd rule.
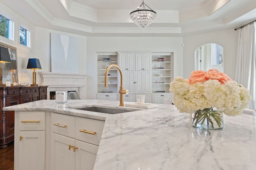
[[[15,111],[14,170],[92,170],[104,121]]]

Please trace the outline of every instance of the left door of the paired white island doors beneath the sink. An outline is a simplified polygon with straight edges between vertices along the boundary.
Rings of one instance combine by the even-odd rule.
[[[74,146],[76,146],[75,139],[52,133],[51,170],[74,170],[76,168]]]

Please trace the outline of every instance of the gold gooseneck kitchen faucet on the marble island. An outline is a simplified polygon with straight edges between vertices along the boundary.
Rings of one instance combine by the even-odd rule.
[[[116,64],[111,64],[110,66],[108,66],[108,68],[105,71],[105,87],[108,87],[108,70],[110,70],[110,68],[112,67],[116,67],[119,72],[120,72],[120,89],[119,89],[119,94],[120,94],[120,104],[119,106],[124,106],[124,94],[128,94],[129,91],[128,90],[124,90],[124,86],[123,86],[123,72],[121,70],[121,68],[116,65]]]

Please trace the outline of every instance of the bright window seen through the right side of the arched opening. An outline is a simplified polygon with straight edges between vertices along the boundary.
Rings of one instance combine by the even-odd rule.
[[[212,44],[212,66],[222,64],[223,48],[218,44]]]

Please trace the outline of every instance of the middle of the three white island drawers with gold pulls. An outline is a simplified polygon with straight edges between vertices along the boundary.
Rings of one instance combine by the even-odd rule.
[[[74,116],[62,115],[58,113],[52,113],[52,132],[64,135],[67,137],[76,137],[76,119]]]

